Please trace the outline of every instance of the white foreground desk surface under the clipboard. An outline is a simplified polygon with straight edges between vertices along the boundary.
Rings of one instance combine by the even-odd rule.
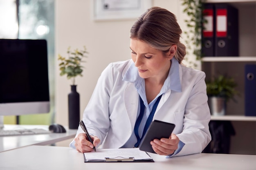
[[[150,154],[153,163],[84,163],[83,154],[58,146],[27,146],[0,152],[2,170],[255,170],[256,155],[200,153],[166,159]]]

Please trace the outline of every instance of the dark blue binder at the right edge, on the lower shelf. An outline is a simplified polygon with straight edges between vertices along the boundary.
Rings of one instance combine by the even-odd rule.
[[[245,65],[245,116],[256,116],[256,64]]]

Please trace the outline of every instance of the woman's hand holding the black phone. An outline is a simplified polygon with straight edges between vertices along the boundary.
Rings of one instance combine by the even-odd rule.
[[[178,148],[179,141],[180,139],[172,133],[169,138],[154,139],[150,144],[158,155],[171,155]]]

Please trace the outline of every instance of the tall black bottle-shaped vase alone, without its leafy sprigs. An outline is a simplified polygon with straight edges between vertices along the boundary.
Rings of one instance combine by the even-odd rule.
[[[80,121],[80,95],[76,91],[76,85],[71,85],[68,94],[68,127],[77,129]]]

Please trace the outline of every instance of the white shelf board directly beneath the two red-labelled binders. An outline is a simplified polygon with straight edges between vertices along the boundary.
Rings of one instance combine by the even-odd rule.
[[[202,62],[256,62],[256,57],[202,57]]]

